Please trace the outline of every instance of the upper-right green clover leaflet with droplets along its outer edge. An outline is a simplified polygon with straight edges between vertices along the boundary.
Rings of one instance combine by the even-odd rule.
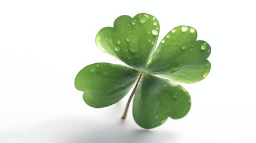
[[[208,62],[206,59],[211,53],[211,47],[205,41],[196,41],[196,37],[197,32],[193,27],[179,26],[172,29],[150,58],[146,72],[174,77],[175,81],[183,83],[202,80],[203,74],[210,69],[202,67],[202,64]],[[193,79],[189,71],[196,71],[199,74]]]

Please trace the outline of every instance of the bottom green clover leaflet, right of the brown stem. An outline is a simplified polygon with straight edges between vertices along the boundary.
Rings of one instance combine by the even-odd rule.
[[[190,95],[182,86],[168,79],[144,74],[135,92],[132,113],[138,125],[151,129],[162,125],[168,117],[184,117],[190,105]]]

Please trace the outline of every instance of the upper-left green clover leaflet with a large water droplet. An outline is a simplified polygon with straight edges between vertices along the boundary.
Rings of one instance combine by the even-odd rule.
[[[159,23],[150,14],[137,14],[134,18],[122,15],[114,27],[104,27],[95,42],[101,51],[113,55],[131,67],[144,70],[153,54],[159,35]]]

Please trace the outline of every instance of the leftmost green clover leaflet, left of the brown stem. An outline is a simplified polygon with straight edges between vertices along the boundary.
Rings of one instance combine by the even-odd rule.
[[[91,107],[107,107],[127,95],[139,74],[139,71],[129,67],[96,63],[78,73],[75,86],[84,91],[84,101]]]

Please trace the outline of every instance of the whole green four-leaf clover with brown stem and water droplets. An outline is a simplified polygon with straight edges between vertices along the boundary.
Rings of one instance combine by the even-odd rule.
[[[79,71],[75,87],[84,91],[84,101],[91,107],[107,107],[120,101],[136,83],[122,119],[127,116],[133,95],[133,117],[142,128],[160,126],[168,117],[186,116],[190,95],[175,82],[204,79],[211,69],[207,60],[211,47],[205,41],[196,41],[193,27],[178,26],[155,51],[158,35],[158,20],[145,13],[133,18],[122,15],[113,27],[101,29],[95,38],[98,48],[130,67],[95,63]]]

